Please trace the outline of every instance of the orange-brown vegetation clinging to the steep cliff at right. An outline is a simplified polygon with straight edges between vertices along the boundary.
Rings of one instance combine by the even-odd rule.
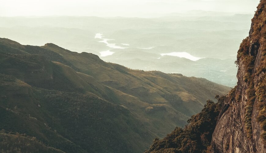
[[[238,50],[237,65],[244,70],[243,81],[247,84],[245,128],[247,136],[252,137],[252,113],[255,100],[259,115],[257,121],[260,124],[261,136],[266,140],[266,1],[261,0],[252,19],[249,37],[243,40]],[[240,80],[241,81],[241,80]]]

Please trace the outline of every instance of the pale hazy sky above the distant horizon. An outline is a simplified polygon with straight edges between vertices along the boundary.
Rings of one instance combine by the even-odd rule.
[[[186,10],[253,13],[259,0],[0,0],[0,16],[151,17]]]

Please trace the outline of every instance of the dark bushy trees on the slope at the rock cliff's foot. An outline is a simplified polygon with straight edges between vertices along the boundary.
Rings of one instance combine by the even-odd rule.
[[[205,152],[212,140],[217,117],[225,96],[217,97],[218,103],[207,101],[203,110],[193,115],[184,129],[176,127],[162,140],[156,138],[146,153],[150,152]]]

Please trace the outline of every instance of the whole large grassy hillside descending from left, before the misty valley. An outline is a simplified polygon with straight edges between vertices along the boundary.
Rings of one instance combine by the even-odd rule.
[[[52,43],[2,38],[0,89],[0,148],[25,146],[17,144],[22,134],[23,142],[36,144],[29,151],[44,152],[142,152],[154,137],[186,125],[209,97],[230,90],[203,78],[128,69]]]

